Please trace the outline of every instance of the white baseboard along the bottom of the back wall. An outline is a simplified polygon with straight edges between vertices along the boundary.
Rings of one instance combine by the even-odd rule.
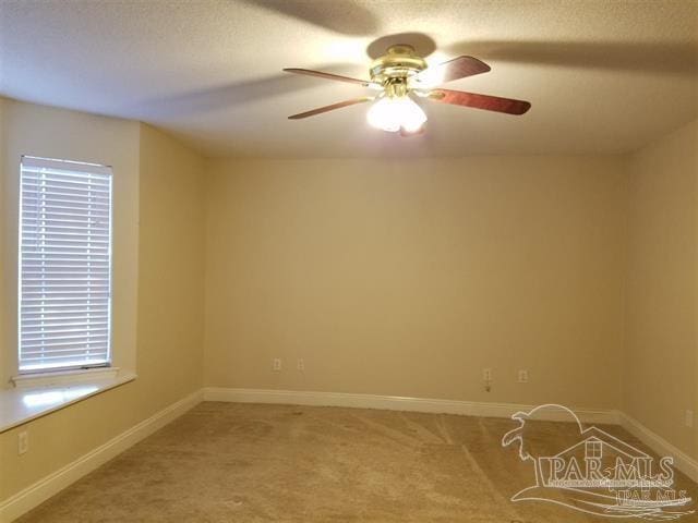
[[[517,403],[486,403],[460,400],[404,398],[399,396],[353,394],[344,392],[310,392],[296,390],[204,388],[204,401],[236,403],[278,403],[314,406],[349,406],[356,409],[382,409],[387,411],[429,412],[434,414],[460,414],[482,417],[510,417],[519,411],[528,412],[535,405]],[[617,425],[616,411],[575,409],[583,423]],[[545,417],[551,422],[569,421],[563,412],[552,411]]]

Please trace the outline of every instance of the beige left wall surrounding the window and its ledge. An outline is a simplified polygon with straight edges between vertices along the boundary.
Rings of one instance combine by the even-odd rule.
[[[115,215],[118,206],[134,209],[136,217],[140,214],[136,229],[122,230],[122,235],[117,229],[127,224],[119,224],[115,216],[115,257],[127,264],[134,259],[136,267],[131,273],[139,275],[139,279],[124,281],[117,276],[123,271],[115,272],[113,285],[115,291],[137,291],[131,308],[133,332],[119,339],[127,343],[132,336],[139,378],[0,434],[0,500],[198,390],[203,352],[202,159],[139,123],[9,104],[8,143],[12,156],[29,153],[111,163]],[[62,135],[50,133],[59,129],[63,129]],[[34,141],[46,147],[21,147]],[[122,156],[115,156],[117,153]],[[3,162],[10,166],[4,179],[11,185],[16,185],[16,161],[8,158]],[[130,190],[119,187],[119,177],[127,172],[133,181]],[[9,199],[12,197],[5,200]],[[5,214],[3,219],[15,218]],[[11,229],[8,232],[15,234]],[[128,242],[120,243],[124,236]],[[118,253],[120,250],[125,252]],[[116,314],[117,311],[115,320]],[[122,328],[124,324],[131,325],[122,319]],[[115,352],[123,349],[117,339],[115,333]],[[13,352],[11,345],[0,349],[3,353]],[[5,375],[11,373],[5,368]],[[28,430],[31,440],[29,452],[21,457],[16,453],[19,430]]]

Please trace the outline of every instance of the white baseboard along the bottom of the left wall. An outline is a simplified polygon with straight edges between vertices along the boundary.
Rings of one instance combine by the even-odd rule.
[[[11,522],[20,515],[55,496],[63,488],[73,484],[84,475],[91,473],[101,464],[120,454],[129,447],[155,433],[168,423],[184,414],[203,401],[203,391],[197,390],[176,403],[163,409],[147,419],[121,433],[106,443],[97,447],[85,455],[29,485],[24,490],[5,499],[0,503],[0,522]]]

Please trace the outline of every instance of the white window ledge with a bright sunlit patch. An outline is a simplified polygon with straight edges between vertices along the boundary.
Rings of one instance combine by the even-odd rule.
[[[0,433],[136,378],[133,373],[113,368],[98,370],[101,373],[77,370],[52,373],[52,376],[34,375],[13,378],[13,381],[20,379],[23,385],[16,385],[14,389],[0,390]],[[111,370],[111,373],[105,373],[105,370]],[[35,381],[31,381],[32,378]],[[41,379],[44,382],[40,381]]]

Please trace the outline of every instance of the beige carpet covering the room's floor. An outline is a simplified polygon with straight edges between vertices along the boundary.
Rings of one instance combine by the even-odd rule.
[[[532,426],[532,424],[530,424]],[[34,522],[610,522],[512,502],[531,462],[512,419],[206,402],[22,518]],[[636,447],[618,427],[603,427]],[[559,450],[576,425],[535,424]],[[679,476],[696,498],[696,485]],[[694,515],[679,522],[697,521]]]

